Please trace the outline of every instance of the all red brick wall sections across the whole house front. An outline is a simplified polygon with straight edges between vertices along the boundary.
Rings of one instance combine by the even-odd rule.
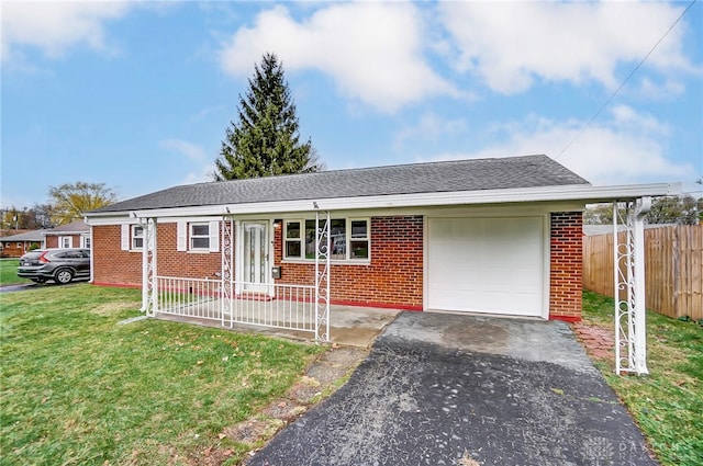
[[[371,218],[370,264],[333,263],[331,298],[334,303],[423,308],[423,217]],[[274,265],[281,268],[277,283],[313,284],[314,264],[282,262],[282,226],[274,229]],[[93,227],[94,282],[142,284],[142,254],[122,251],[121,228]],[[582,215],[551,214],[549,318],[581,319]],[[159,275],[204,279],[221,269],[220,252],[176,251],[176,224],[158,225]]]

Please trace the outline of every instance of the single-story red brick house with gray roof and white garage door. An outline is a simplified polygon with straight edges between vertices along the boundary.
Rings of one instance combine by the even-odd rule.
[[[86,214],[92,282],[231,268],[238,292],[314,284],[315,218],[328,214],[332,303],[580,320],[585,205],[677,189],[593,186],[546,156],[175,186]]]

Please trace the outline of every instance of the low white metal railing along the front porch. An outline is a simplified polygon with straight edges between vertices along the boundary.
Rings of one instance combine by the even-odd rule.
[[[231,286],[223,291],[224,286]],[[155,314],[312,332],[320,325],[315,287],[157,276]]]

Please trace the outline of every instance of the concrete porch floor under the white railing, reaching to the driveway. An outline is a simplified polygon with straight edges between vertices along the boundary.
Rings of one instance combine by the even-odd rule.
[[[400,315],[399,309],[377,307],[330,306],[330,343],[357,348],[370,348],[376,337]],[[233,331],[255,332],[293,340],[314,341],[311,332],[277,329],[270,327],[234,323],[223,327],[219,320],[197,317],[157,314],[157,319],[187,322]]]

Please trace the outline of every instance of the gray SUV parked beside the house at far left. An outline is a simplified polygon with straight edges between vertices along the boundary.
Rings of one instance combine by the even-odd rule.
[[[36,249],[20,258],[18,276],[32,282],[58,284],[90,277],[90,249]]]

